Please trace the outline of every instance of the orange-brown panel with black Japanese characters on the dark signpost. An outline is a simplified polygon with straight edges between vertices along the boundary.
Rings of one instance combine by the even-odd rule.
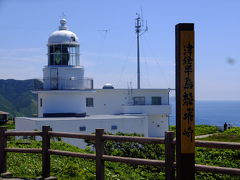
[[[194,153],[194,32],[180,32],[181,153]]]

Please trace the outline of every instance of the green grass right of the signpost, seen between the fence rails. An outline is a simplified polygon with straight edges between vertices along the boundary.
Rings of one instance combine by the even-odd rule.
[[[224,132],[219,132],[212,136],[199,140],[240,142],[240,128],[235,127]],[[240,167],[240,151],[228,149],[196,148],[196,164],[220,166],[220,167]],[[196,179],[200,180],[238,180],[238,176],[222,175],[218,173],[197,172]]]

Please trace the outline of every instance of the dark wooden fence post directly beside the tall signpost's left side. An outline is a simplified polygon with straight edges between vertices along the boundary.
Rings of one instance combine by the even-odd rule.
[[[173,144],[174,132],[165,132],[165,179],[175,179],[175,169],[173,167],[175,156],[175,145]]]

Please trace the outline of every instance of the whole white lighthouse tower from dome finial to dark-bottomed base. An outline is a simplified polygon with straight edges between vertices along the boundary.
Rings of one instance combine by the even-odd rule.
[[[84,78],[84,67],[79,62],[79,40],[68,30],[66,23],[66,19],[61,19],[59,29],[48,38],[48,65],[43,68],[43,90],[37,92],[39,117],[86,115],[80,94],[93,88],[93,80]]]

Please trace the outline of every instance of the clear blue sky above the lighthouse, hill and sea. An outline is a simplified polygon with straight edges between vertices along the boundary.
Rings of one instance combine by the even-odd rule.
[[[140,40],[143,88],[174,88],[175,25],[194,23],[196,99],[240,100],[238,0],[0,0],[0,79],[42,78],[47,40],[64,12],[95,87],[136,87],[134,19],[141,8],[149,26]]]

